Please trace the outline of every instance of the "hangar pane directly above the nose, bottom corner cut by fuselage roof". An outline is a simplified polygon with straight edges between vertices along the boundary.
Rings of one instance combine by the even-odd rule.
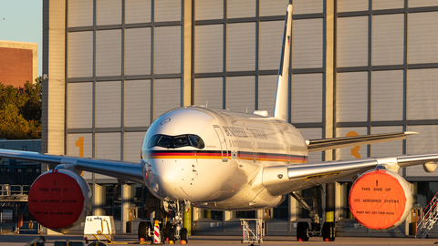
[[[153,119],[156,119],[172,108],[181,107],[181,79],[155,79],[153,94]]]

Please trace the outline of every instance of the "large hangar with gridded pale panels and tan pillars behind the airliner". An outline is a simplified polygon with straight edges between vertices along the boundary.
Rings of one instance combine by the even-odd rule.
[[[436,152],[433,0],[44,0],[43,152],[139,161],[146,130],[168,109],[204,105],[272,115],[288,3],[294,5],[288,120],[305,138],[422,133],[316,153],[309,161]],[[436,173],[420,166],[401,174],[412,183],[415,204],[425,207],[438,191]],[[119,231],[130,231],[130,208],[147,216],[144,187],[85,177],[93,214],[113,215]],[[339,235],[382,235],[352,220],[350,186],[351,180],[336,183]],[[266,211],[194,209],[192,233],[239,234],[239,218],[265,216],[271,235],[295,234],[307,217],[291,198]],[[389,233],[409,233],[409,218]]]

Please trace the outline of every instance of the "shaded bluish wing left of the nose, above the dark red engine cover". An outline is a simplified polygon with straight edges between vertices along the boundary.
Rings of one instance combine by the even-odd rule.
[[[140,163],[135,162],[57,156],[30,151],[0,149],[0,159],[2,158],[22,159],[55,166],[59,164],[68,164],[84,171],[109,175],[117,179],[144,184],[141,174],[141,165]]]

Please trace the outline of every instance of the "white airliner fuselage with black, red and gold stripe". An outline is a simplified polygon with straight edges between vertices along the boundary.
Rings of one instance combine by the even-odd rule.
[[[203,145],[182,143],[198,137]],[[143,177],[156,197],[213,210],[275,207],[283,196],[266,191],[263,168],[307,161],[304,138],[287,122],[203,107],[157,118],[141,149]]]

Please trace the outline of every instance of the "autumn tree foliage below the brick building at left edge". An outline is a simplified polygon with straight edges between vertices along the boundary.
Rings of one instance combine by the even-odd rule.
[[[0,83],[0,138],[41,138],[42,77],[25,87]]]

